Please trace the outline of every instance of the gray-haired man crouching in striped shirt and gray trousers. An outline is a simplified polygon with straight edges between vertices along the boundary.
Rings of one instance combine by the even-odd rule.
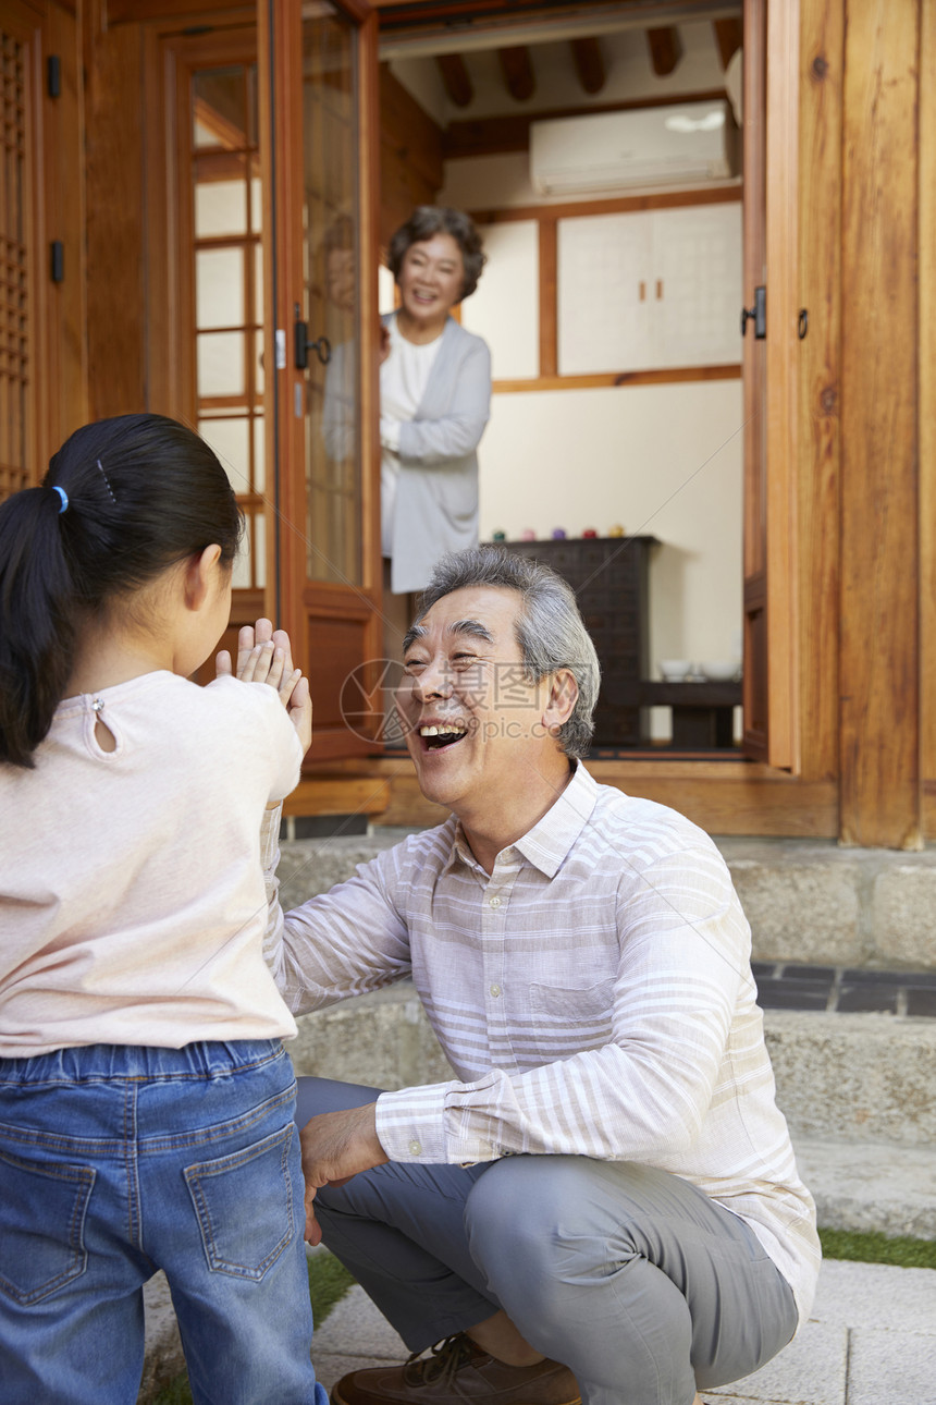
[[[808,1314],[815,1214],[748,924],[702,830],[588,774],[596,693],[563,580],[445,558],[397,707],[452,815],[274,908],[295,1013],[411,975],[457,1075],[300,1080],[307,1235],[434,1347],[345,1375],[334,1405],[693,1405]]]

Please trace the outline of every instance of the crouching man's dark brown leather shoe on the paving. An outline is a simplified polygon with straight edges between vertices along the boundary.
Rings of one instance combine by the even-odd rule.
[[[331,1405],[581,1405],[575,1377],[559,1361],[505,1366],[459,1332],[411,1356],[406,1366],[351,1371],[331,1390]]]

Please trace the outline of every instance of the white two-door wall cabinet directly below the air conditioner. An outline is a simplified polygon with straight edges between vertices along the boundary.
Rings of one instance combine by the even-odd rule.
[[[741,360],[741,205],[559,221],[559,371]]]

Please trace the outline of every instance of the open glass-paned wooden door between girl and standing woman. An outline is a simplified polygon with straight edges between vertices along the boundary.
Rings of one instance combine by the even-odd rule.
[[[365,0],[260,0],[276,615],[309,672],[309,766],[379,750],[345,715],[380,653],[377,52]],[[275,465],[275,471],[274,471]],[[271,570],[274,562],[271,559]],[[376,712],[375,712],[376,719]]]

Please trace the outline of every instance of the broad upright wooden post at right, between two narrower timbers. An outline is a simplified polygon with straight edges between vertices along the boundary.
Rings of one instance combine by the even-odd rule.
[[[841,839],[921,846],[921,0],[848,0],[842,125]]]

